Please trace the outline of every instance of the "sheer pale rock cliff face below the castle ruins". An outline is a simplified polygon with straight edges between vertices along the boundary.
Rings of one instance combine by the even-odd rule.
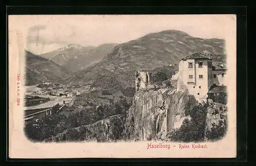
[[[176,89],[137,91],[125,121],[126,140],[164,140],[197,105],[193,95]]]

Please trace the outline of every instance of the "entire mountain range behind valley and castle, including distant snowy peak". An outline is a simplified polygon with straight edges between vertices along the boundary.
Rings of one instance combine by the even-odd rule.
[[[166,30],[118,45],[68,45],[41,57],[27,51],[28,57],[34,58],[28,59],[26,75],[30,85],[49,79],[59,80],[61,84],[91,84],[91,87],[117,87],[125,91],[134,87],[137,69],[174,72],[178,70],[177,65],[169,65],[178,64],[180,59],[194,52],[210,53],[214,61],[225,63],[225,40],[201,39],[181,31]]]

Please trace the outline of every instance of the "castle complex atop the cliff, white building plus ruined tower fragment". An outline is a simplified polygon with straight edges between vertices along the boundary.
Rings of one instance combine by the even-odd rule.
[[[169,80],[177,80],[177,90],[187,90],[198,101],[207,99],[211,93],[226,93],[227,66],[215,62],[205,54],[195,52],[179,62],[179,71]],[[147,89],[151,84],[151,72],[142,69],[135,73],[136,91]],[[225,90],[225,91],[223,91]]]

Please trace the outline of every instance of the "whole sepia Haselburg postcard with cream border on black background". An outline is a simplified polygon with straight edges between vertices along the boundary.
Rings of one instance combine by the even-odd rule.
[[[236,157],[236,15],[16,15],[9,40],[26,144]]]

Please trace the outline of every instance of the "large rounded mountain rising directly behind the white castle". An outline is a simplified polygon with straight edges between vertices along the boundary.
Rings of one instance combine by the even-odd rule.
[[[134,86],[134,71],[140,67],[154,69],[157,67],[178,64],[180,59],[193,52],[212,53],[212,59],[225,60],[224,40],[200,39],[176,30],[167,30],[148,34],[115,46],[97,64],[90,66],[67,79],[71,85],[91,83],[99,84],[104,80],[104,88],[111,88],[115,78],[116,84],[123,88]],[[108,84],[109,82],[109,84]]]

